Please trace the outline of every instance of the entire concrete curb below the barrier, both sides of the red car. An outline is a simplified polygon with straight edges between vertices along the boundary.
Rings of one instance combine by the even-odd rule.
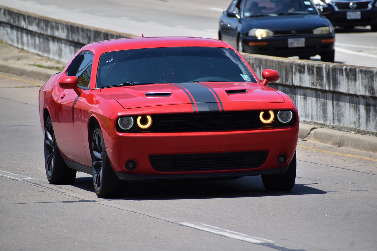
[[[56,70],[29,66],[22,63],[0,61],[0,72],[47,81]],[[359,151],[377,153],[377,137],[342,132],[300,123],[299,138],[322,144],[334,145]]]

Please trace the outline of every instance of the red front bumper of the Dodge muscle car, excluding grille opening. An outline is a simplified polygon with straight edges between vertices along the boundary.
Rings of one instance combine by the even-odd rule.
[[[279,129],[255,129],[224,132],[185,133],[116,133],[105,142],[107,155],[118,178],[177,179],[177,178],[238,178],[242,176],[282,173],[293,158],[297,146],[298,123]],[[221,166],[215,169],[157,171],[150,162],[151,156],[190,156],[241,152],[266,152],[264,161],[256,167],[240,169]],[[277,163],[284,154],[287,161]],[[129,161],[136,163],[135,170],[126,169]],[[202,159],[205,161],[205,159]]]

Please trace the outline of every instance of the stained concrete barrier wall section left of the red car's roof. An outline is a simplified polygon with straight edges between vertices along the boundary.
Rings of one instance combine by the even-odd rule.
[[[0,38],[67,63],[85,44],[134,35],[97,29],[0,6]]]

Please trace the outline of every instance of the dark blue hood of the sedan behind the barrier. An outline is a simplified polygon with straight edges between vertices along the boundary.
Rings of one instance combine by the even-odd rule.
[[[269,29],[271,31],[307,30],[331,25],[319,15],[278,15],[242,18],[248,29]]]

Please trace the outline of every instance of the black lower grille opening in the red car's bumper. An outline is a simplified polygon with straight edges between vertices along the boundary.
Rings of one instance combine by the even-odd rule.
[[[159,172],[236,170],[260,167],[267,155],[267,151],[151,155],[149,161]]]

